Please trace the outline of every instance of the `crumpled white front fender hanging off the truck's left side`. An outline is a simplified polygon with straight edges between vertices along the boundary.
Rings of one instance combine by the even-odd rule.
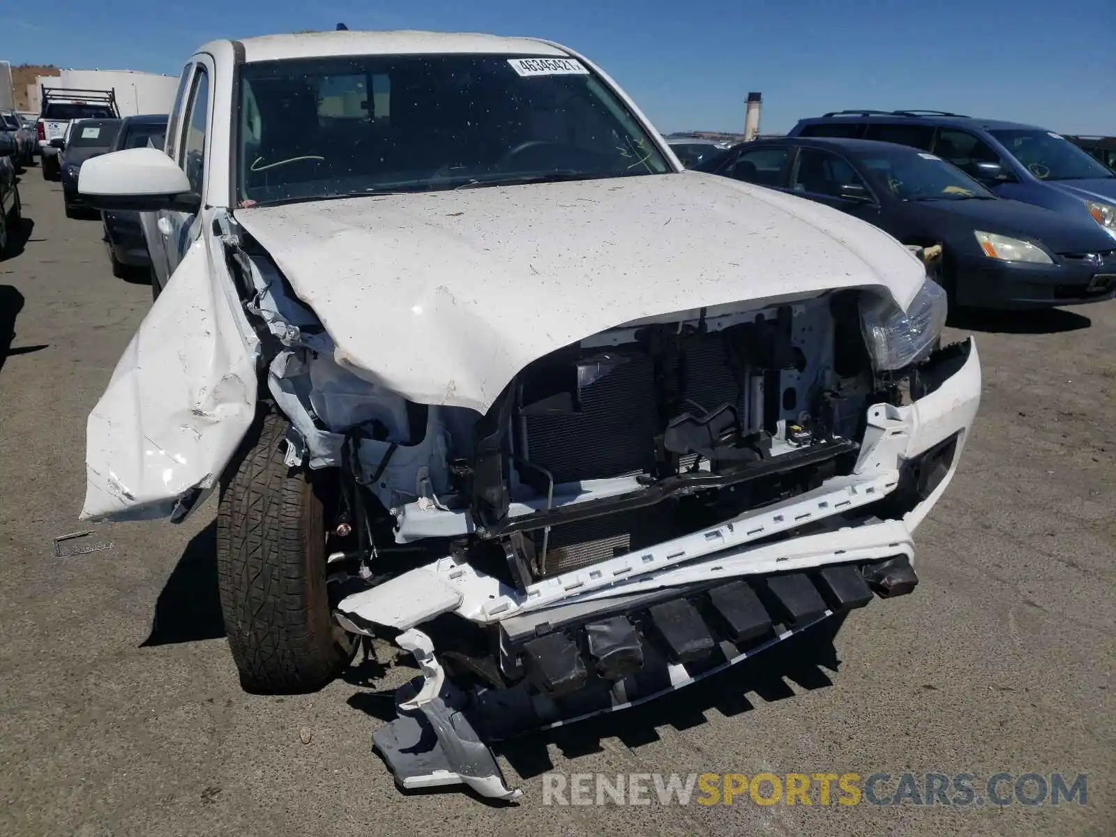
[[[184,520],[252,422],[259,340],[210,246],[186,252],[89,414],[83,520]]]

